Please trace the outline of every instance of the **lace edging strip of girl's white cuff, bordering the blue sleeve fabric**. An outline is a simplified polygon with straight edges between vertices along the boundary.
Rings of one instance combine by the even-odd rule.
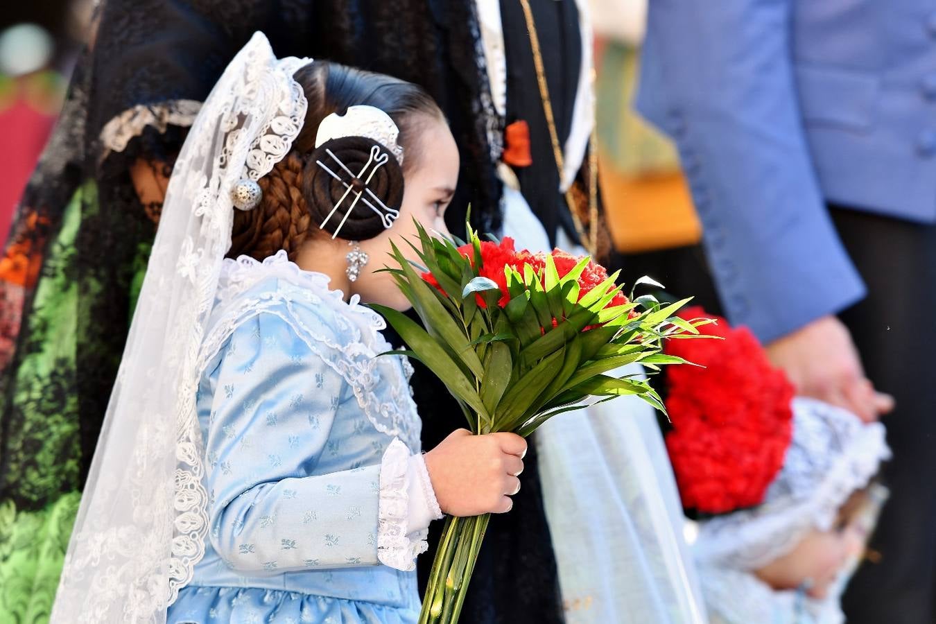
[[[386,566],[412,572],[416,558],[426,552],[428,530],[407,535],[409,515],[410,451],[394,440],[380,462],[380,505],[377,524],[377,559]],[[433,496],[432,501],[435,500]]]

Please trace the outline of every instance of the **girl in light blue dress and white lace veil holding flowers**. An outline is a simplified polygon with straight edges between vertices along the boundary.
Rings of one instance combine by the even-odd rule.
[[[513,434],[460,430],[421,454],[408,363],[380,356],[392,348],[379,333],[384,321],[363,305],[408,307],[378,269],[391,240],[407,247],[414,220],[446,232],[459,153],[415,85],[328,62],[277,61],[261,35],[232,67],[238,76],[229,68],[215,88],[169,183],[168,197],[193,196],[194,216],[164,215],[134,318],[146,329],[139,341],[155,340],[156,361],[133,356],[131,335],[95,463],[119,455],[109,436],[127,420],[122,385],[151,380],[139,385],[142,399],[126,400],[142,402],[144,421],[154,418],[147,401],[170,377],[154,370],[195,373],[191,399],[184,374],[173,387],[197,430],[170,446],[177,465],[161,473],[172,476],[170,509],[150,501],[162,491],[155,472],[152,489],[139,487],[153,461],[117,475],[117,486],[101,476],[86,492],[53,619],[415,622],[415,559],[431,520],[508,511],[526,451]],[[250,106],[237,104],[244,100]],[[212,163],[190,149],[199,136],[212,137],[200,152],[220,154]],[[193,173],[199,167],[204,176]],[[213,184],[221,169],[234,172]],[[208,244],[213,223],[225,219],[230,238],[221,240],[230,244]],[[187,223],[190,238],[176,236],[173,223]],[[178,239],[175,274],[159,279],[157,252],[169,239]],[[214,258],[222,248],[227,258]],[[205,283],[211,301],[192,307],[195,329],[186,329],[178,293],[208,292]],[[159,324],[166,333],[154,338]],[[196,331],[197,350],[164,346]],[[131,444],[145,453],[130,457],[159,457],[154,440],[169,440],[171,428],[152,423],[140,424]],[[184,430],[184,419],[177,425]],[[169,537],[160,516],[171,520],[171,542],[154,544]]]

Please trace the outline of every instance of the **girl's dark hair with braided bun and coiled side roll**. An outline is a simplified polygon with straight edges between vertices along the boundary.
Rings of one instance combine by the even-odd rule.
[[[326,159],[324,150],[328,147],[345,165],[355,169],[357,163],[367,161],[376,143],[367,138],[339,138],[316,150],[318,126],[331,113],[342,114],[356,105],[373,106],[388,113],[400,128],[397,142],[405,153],[403,167],[390,155],[388,165],[381,167],[369,184],[392,208],[399,208],[402,201],[403,171],[417,165],[422,157],[415,139],[422,123],[444,119],[435,101],[421,87],[383,74],[315,61],[300,67],[294,78],[309,102],[305,121],[290,152],[258,181],[263,189],[259,206],[254,210],[235,210],[229,257],[246,254],[262,260],[283,249],[294,258],[300,245],[344,195],[344,185],[331,179],[316,161]],[[333,232],[338,223],[338,219],[333,220],[324,231]],[[358,205],[342,226],[341,236],[364,240],[383,230],[373,210]]]

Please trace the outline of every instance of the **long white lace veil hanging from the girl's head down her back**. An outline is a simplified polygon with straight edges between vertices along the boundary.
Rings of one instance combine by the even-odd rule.
[[[198,113],[159,231],[68,545],[52,622],[166,621],[204,554],[197,356],[233,218],[230,191],[289,151],[307,102],[256,33]]]

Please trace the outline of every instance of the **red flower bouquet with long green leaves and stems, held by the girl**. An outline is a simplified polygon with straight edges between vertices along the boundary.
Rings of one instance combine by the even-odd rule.
[[[412,246],[423,267],[394,247],[399,268],[388,270],[423,327],[373,307],[406,341],[402,353],[446,385],[474,433],[528,436],[548,418],[586,407],[590,397],[635,394],[664,410],[646,381],[613,372],[633,362],[683,362],[662,353],[661,341],[698,334],[701,322],[673,316],[685,301],[632,302],[615,284],[618,274],[608,276],[587,256],[518,252],[511,239],[482,241],[471,228],[467,243],[417,228],[420,244]],[[488,520],[446,519],[420,623],[458,620]]]

